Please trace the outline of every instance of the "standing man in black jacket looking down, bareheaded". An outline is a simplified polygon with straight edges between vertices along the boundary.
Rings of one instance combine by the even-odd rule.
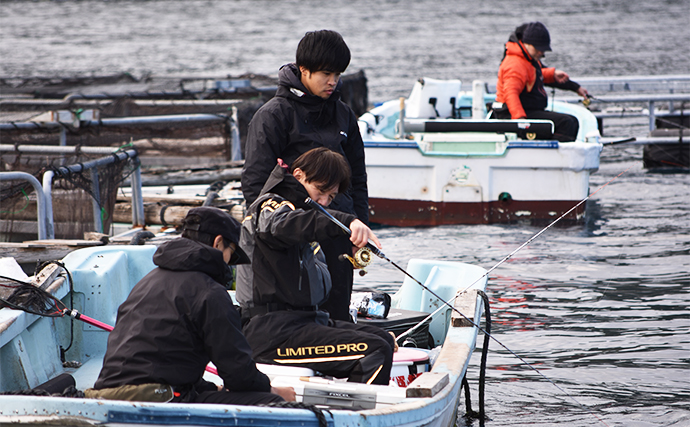
[[[364,144],[355,113],[340,100],[340,75],[350,64],[350,49],[340,34],[307,33],[299,42],[294,64],[278,74],[276,96],[264,104],[249,124],[242,171],[242,192],[251,205],[259,196],[278,158],[287,164],[315,147],[342,154],[352,171],[351,187],[331,203],[331,209],[369,222]],[[346,236],[320,242],[333,278],[333,290],[323,305],[331,318],[350,320],[353,270],[338,256],[352,250]]]

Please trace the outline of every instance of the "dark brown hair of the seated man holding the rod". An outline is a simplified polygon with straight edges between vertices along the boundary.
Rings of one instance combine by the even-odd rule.
[[[321,191],[337,185],[338,193],[344,193],[350,187],[350,165],[342,154],[326,147],[313,148],[299,156],[290,166],[290,173],[296,168]]]

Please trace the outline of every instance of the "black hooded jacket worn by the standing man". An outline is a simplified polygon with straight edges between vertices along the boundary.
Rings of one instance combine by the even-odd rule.
[[[364,144],[357,117],[340,100],[340,84],[323,99],[312,95],[299,78],[295,64],[287,64],[278,74],[276,96],[264,104],[249,124],[242,193],[252,204],[266,183],[278,158],[288,165],[316,147],[327,147],[342,154],[352,170],[350,191],[338,194],[331,209],[357,215],[368,223],[367,173]]]

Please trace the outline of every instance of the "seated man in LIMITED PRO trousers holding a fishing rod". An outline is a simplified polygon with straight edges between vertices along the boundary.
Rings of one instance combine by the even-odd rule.
[[[252,260],[238,266],[237,300],[255,360],[311,368],[367,384],[388,384],[395,340],[380,328],[333,320],[319,306],[331,276],[318,242],[343,235],[307,197],[328,206],[347,190],[345,158],[314,148],[289,167],[279,160],[242,223],[241,246]],[[374,233],[355,215],[329,210],[349,226],[355,247]]]

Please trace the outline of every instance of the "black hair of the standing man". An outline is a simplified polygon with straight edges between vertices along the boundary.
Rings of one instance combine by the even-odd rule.
[[[350,65],[350,49],[335,31],[309,31],[297,46],[295,63],[298,68],[305,67],[312,73],[343,73]]]

